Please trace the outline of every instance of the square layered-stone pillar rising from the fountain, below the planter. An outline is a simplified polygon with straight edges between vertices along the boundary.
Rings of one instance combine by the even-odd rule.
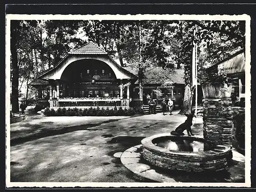
[[[230,98],[203,100],[203,134],[206,140],[232,147],[234,125],[231,104]]]

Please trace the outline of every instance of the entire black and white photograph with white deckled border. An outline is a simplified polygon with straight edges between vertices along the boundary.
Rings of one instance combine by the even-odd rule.
[[[248,187],[250,78],[245,14],[7,14],[6,185]]]

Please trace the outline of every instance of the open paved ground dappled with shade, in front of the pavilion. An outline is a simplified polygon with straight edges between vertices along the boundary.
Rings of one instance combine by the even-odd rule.
[[[11,181],[138,182],[113,154],[139,145],[144,137],[174,130],[186,119],[177,113],[28,116],[23,122],[11,124]],[[202,122],[202,117],[194,118],[192,127],[201,137]]]

